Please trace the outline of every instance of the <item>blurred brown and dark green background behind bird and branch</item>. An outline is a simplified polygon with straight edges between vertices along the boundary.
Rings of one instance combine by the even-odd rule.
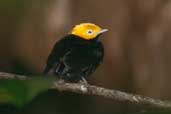
[[[90,84],[171,99],[170,0],[0,0],[0,71],[41,74],[54,43],[75,24],[91,22],[103,35],[104,63]],[[141,114],[130,103],[49,90],[2,114]]]

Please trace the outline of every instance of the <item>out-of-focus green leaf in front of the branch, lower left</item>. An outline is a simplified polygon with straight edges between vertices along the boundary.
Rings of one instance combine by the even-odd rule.
[[[35,77],[29,80],[0,80],[0,103],[17,107],[30,102],[35,96],[52,86],[53,78]]]

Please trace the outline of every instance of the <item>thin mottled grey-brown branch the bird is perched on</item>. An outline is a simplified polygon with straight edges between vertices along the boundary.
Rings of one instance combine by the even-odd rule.
[[[0,79],[26,80],[28,79],[28,77],[23,75],[0,72]],[[70,91],[93,96],[102,96],[104,98],[109,98],[116,101],[129,101],[136,104],[151,105],[153,107],[171,110],[171,102],[168,101],[162,101],[150,97],[143,97],[141,95],[134,95],[118,90],[106,89],[89,84],[84,85],[80,83],[61,83],[60,81],[55,81],[52,88],[57,89],[59,91]]]

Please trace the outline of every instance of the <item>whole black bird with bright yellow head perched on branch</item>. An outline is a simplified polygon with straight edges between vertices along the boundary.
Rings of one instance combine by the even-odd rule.
[[[48,56],[43,73],[50,71],[67,82],[83,82],[103,62],[104,47],[99,40],[102,29],[93,23],[80,23],[57,41]]]

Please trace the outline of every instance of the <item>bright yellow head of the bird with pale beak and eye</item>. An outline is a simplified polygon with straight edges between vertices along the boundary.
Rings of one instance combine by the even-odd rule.
[[[99,34],[102,34],[106,31],[108,30],[102,29],[99,26],[92,23],[81,23],[79,25],[76,25],[72,29],[71,34],[79,36],[80,38],[83,38],[85,40],[91,40],[96,38],[96,36],[98,36]]]

